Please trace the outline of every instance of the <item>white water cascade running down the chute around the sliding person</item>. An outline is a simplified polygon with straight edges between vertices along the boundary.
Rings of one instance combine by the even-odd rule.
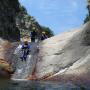
[[[13,80],[20,80],[20,79],[25,79],[28,77],[28,75],[32,74],[33,69],[35,68],[36,65],[36,60],[37,60],[37,46],[38,43],[30,43],[31,46],[31,52],[27,57],[26,62],[25,61],[21,61],[20,59],[20,50],[21,50],[21,45],[19,45],[16,50],[15,50],[15,55],[17,55],[18,60],[16,60],[16,71],[12,76]]]

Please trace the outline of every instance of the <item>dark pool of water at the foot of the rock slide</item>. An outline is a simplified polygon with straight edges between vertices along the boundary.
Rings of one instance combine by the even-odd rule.
[[[39,81],[8,81],[5,85],[0,85],[0,90],[89,90],[81,89],[71,83],[61,84],[53,82]]]

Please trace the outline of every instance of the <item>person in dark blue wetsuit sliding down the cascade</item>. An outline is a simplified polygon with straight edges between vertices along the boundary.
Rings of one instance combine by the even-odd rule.
[[[20,58],[22,61],[26,61],[27,56],[29,55],[30,52],[30,45],[28,41],[24,41],[24,44],[21,47],[21,51],[22,51],[22,56]]]

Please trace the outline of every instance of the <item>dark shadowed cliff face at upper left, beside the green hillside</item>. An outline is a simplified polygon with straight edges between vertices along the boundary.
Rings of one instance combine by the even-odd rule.
[[[0,0],[0,37],[10,41],[20,39],[19,30],[15,24],[19,12],[18,0]]]

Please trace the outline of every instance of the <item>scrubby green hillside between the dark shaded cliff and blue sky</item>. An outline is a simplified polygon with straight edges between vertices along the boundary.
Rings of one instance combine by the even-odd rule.
[[[42,34],[42,32],[46,32],[46,35],[48,37],[54,35],[53,31],[50,28],[41,26],[34,17],[30,16],[23,6],[19,7],[20,12],[17,16],[16,24],[20,30],[21,37],[27,34],[29,35],[30,31],[32,30],[36,30],[39,35]]]

